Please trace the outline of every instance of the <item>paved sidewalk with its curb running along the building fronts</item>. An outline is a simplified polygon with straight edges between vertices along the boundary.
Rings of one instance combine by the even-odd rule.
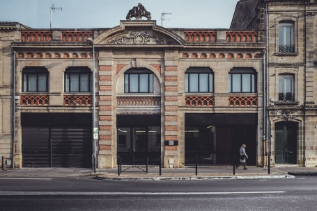
[[[234,178],[294,178],[293,175],[317,175],[316,167],[271,167],[270,174],[268,168],[248,167],[243,170],[242,167],[235,169],[233,175],[233,167],[229,166],[206,166],[199,167],[196,175],[195,167],[185,167],[180,169],[162,169],[160,176],[159,167],[139,168],[128,166],[122,167],[122,172],[118,176],[118,169],[96,169],[93,173],[91,169],[75,169],[75,168],[23,168],[9,169],[0,171],[0,177],[6,178],[54,178],[54,177],[78,177],[78,176],[95,176],[100,180],[207,180],[207,179],[234,179]]]

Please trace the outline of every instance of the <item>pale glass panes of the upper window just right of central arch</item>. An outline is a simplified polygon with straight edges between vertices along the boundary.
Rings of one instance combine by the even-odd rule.
[[[185,73],[185,92],[213,92],[213,74]]]

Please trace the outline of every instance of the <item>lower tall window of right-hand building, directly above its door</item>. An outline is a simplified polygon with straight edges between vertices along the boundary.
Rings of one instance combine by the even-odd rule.
[[[279,75],[279,101],[281,102],[295,101],[293,74]]]

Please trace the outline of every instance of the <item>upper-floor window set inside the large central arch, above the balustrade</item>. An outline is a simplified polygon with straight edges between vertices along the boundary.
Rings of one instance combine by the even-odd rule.
[[[125,71],[125,93],[153,93],[153,72],[148,69]]]

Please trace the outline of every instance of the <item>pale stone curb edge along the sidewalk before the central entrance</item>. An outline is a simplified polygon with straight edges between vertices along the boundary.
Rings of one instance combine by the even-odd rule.
[[[96,176],[98,180],[245,180],[245,179],[278,179],[278,178],[295,178],[293,175],[263,175],[263,176],[187,176],[187,177],[176,177],[176,176],[162,176],[162,177],[107,177],[107,176]]]

